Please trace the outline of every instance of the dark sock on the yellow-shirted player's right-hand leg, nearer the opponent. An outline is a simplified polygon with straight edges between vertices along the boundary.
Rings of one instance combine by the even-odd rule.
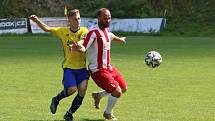
[[[76,110],[81,106],[83,99],[84,97],[81,97],[77,94],[74,100],[72,101],[72,106],[70,107],[69,112],[75,113]]]

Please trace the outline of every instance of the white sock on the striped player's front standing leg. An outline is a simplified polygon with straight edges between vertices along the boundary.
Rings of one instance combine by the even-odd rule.
[[[106,113],[112,113],[113,107],[115,106],[117,100],[118,98],[113,97],[112,95],[108,97],[107,107],[105,109]]]

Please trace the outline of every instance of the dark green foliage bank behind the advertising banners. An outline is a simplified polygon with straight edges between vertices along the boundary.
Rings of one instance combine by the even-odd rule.
[[[166,32],[177,35],[211,35],[215,24],[214,0],[1,0],[0,18],[62,17],[64,5],[78,8],[82,17],[96,17],[96,10],[107,7],[113,18],[167,19]]]

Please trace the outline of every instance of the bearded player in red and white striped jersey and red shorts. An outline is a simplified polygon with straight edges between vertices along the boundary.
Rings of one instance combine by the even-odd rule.
[[[102,96],[109,95],[104,118],[108,120],[117,120],[113,115],[113,107],[118,98],[126,91],[127,85],[123,77],[119,74],[110,61],[111,41],[125,42],[125,37],[117,37],[108,31],[111,21],[111,13],[107,8],[101,8],[98,11],[98,26],[90,30],[84,40],[83,45],[77,44],[76,49],[86,51],[89,61],[89,70],[94,82],[104,91],[97,94],[98,103]]]

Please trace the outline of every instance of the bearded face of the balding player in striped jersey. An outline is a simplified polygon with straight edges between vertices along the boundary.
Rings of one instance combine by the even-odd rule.
[[[110,25],[111,14],[110,11],[104,10],[101,16],[98,18],[98,22],[102,28],[107,28]]]

